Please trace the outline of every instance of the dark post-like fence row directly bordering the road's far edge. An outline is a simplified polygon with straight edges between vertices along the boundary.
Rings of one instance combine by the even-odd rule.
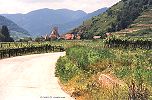
[[[49,53],[49,52],[61,52],[64,51],[62,46],[31,46],[31,47],[22,47],[22,48],[11,48],[0,50],[0,59],[22,56],[27,54],[40,54],[40,53]]]

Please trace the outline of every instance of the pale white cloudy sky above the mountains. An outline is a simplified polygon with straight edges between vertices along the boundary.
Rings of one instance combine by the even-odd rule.
[[[110,7],[120,0],[0,0],[1,14],[28,13],[33,10],[70,9],[83,10],[87,13],[103,7]]]

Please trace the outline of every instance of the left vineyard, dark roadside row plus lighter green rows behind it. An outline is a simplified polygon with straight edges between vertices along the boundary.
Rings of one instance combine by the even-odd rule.
[[[64,51],[60,45],[52,45],[50,42],[14,42],[0,43],[0,59],[22,56],[28,54],[40,54],[48,52]]]

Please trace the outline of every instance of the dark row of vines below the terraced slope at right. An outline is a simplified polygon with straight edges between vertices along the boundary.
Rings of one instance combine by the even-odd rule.
[[[110,37],[105,40],[105,44],[107,47],[120,47],[125,49],[152,49],[151,38]]]

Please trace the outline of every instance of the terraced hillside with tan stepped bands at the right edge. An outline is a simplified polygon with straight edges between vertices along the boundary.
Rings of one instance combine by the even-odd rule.
[[[113,34],[117,36],[152,38],[152,8],[149,7],[145,10],[127,29]]]

